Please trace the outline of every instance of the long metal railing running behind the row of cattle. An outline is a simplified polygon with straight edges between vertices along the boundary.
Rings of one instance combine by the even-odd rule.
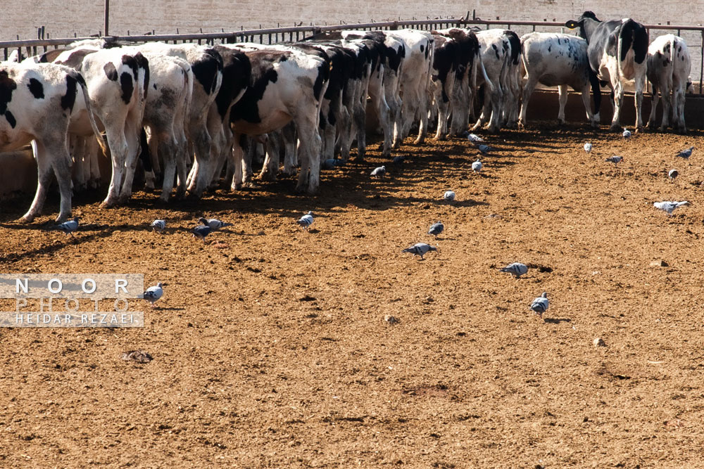
[[[644,25],[648,34],[651,30],[671,31],[683,37],[689,49],[698,51],[691,53],[692,70],[699,70],[698,89],[703,92],[704,86],[704,26],[688,25]],[[532,31],[560,32],[570,31],[560,21],[527,21],[527,20],[483,20],[470,12],[460,18],[439,18],[427,20],[398,20],[372,23],[340,24],[340,25],[296,25],[293,27],[272,27],[256,30],[240,30],[232,32],[199,32],[194,34],[140,34],[127,36],[93,36],[93,37],[66,37],[58,39],[44,38],[44,27],[37,30],[38,39],[18,39],[13,41],[0,41],[2,53],[0,58],[7,60],[13,50],[25,56],[35,56],[44,53],[50,48],[58,49],[75,41],[96,39],[100,37],[106,41],[121,43],[141,43],[149,41],[163,41],[178,44],[183,42],[197,42],[198,44],[222,44],[236,42],[259,42],[260,44],[277,44],[281,42],[299,41],[305,37],[320,32],[339,30],[396,30],[399,28],[413,28],[417,30],[439,30],[448,27],[475,27],[477,29],[490,29],[491,27],[505,27],[524,34]]]

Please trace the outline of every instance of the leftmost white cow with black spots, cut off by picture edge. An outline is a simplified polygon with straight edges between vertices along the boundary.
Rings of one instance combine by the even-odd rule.
[[[68,127],[77,100],[84,103],[92,129],[99,134],[80,73],[49,63],[0,62],[0,151],[34,141],[37,158],[37,192],[23,221],[32,221],[41,212],[51,169],[61,193],[56,221],[65,221],[71,213]]]

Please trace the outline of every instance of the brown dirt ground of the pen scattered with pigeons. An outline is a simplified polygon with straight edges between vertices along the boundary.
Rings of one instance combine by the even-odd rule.
[[[467,141],[409,139],[403,169],[370,179],[372,151],[316,197],[292,179],[161,206],[79,197],[77,241],[46,231],[58,197],[27,226],[30,199],[3,202],[2,272],[168,285],[144,328],[0,330],[0,466],[701,467],[703,134],[486,141],[481,175]],[[203,214],[233,223],[217,246],[187,231]],[[401,253],[420,241],[439,252]],[[524,278],[498,271],[516,261]]]

